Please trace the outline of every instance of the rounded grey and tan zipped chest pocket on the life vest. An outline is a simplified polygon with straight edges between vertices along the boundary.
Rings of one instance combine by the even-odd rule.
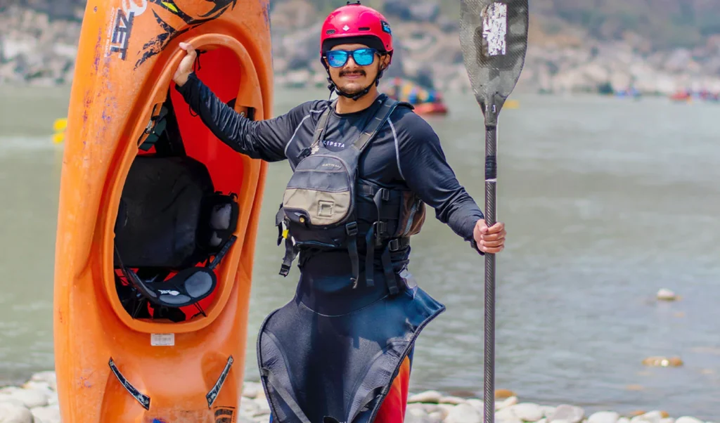
[[[353,186],[354,176],[342,159],[311,155],[297,165],[287,184],[285,215],[308,229],[344,224],[354,211]]]

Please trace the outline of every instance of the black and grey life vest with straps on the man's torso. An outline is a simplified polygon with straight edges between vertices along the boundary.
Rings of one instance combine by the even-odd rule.
[[[336,100],[337,101],[337,100]],[[347,250],[351,260],[351,281],[359,278],[358,244],[366,251],[365,278],[374,285],[374,250],[382,249],[382,265],[390,286],[397,294],[390,252],[409,245],[410,235],[420,231],[425,206],[410,190],[389,189],[359,178],[358,163],[397,106],[412,106],[382,94],[374,117],[369,119],[357,140],[344,150],[333,152],[323,137],[333,101],[320,116],[310,147],[300,153],[300,162],[287,183],[278,213],[278,245],[285,240],[285,257],[280,274],[287,276],[297,253],[304,248]]]

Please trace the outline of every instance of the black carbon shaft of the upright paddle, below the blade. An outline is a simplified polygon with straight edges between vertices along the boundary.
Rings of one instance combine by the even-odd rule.
[[[495,204],[498,186],[498,127],[485,127],[485,223],[496,222]],[[483,379],[483,421],[495,420],[495,254],[485,253],[485,378]]]

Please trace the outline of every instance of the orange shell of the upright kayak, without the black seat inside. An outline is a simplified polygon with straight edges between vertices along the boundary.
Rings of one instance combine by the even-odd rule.
[[[60,180],[53,329],[63,422],[225,422],[242,390],[254,244],[266,163],[192,116],[171,78],[181,41],[207,51],[198,76],[253,119],[271,115],[268,1],[88,1]],[[169,99],[168,99],[169,97]],[[237,240],[204,315],[133,318],[117,294],[114,227],[145,129],[171,101],[187,155],[237,194]],[[225,420],[227,419],[227,420]]]

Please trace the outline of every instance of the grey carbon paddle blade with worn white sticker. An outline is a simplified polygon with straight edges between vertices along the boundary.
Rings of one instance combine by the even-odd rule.
[[[528,50],[528,0],[462,0],[460,45],[475,99],[493,124]]]

